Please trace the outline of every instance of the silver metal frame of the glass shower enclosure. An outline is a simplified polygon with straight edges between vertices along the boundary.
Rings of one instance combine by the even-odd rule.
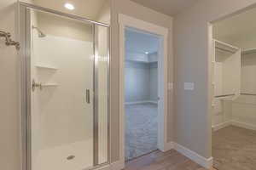
[[[84,17],[79,17],[73,14],[66,14],[60,11],[56,11],[50,8],[39,7],[30,3],[17,3],[18,9],[18,29],[17,33],[20,38],[20,121],[21,121],[21,159],[22,159],[22,170],[32,170],[32,127],[31,127],[31,115],[32,115],[32,87],[31,87],[31,9],[42,11],[49,14],[56,14],[59,16],[67,17],[73,20],[79,20],[86,24],[90,23],[93,29],[93,51],[94,51],[94,65],[93,65],[93,167],[85,167],[86,169],[97,169],[108,166],[110,164],[110,114],[109,114],[109,57],[110,57],[110,26],[107,24],[96,22],[94,20],[89,20]],[[98,162],[98,41],[96,34],[96,26],[104,26],[108,28],[108,54],[107,54],[107,63],[108,63],[108,158],[107,161],[100,164]]]

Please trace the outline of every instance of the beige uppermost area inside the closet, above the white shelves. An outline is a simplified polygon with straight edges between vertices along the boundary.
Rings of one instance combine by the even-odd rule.
[[[224,42],[241,42],[256,38],[256,8],[213,24],[213,37]],[[256,44],[255,44],[256,46]]]

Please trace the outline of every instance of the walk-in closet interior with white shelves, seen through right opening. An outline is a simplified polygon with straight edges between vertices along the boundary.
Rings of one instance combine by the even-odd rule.
[[[218,170],[256,167],[256,9],[212,24],[212,157]]]

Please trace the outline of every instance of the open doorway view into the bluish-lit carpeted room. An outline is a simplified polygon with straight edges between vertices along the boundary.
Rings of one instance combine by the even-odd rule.
[[[125,29],[125,161],[157,150],[159,42]]]

